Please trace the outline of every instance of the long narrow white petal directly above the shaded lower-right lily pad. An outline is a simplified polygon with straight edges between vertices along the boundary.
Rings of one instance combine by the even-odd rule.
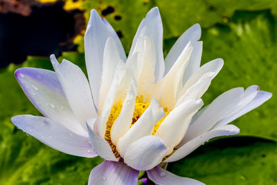
[[[188,141],[188,143],[184,143],[181,148],[177,149],[175,152],[168,157],[164,162],[173,162],[173,161],[178,161],[179,159],[182,159],[189,155],[193,150],[201,146],[203,143],[208,141],[209,139],[212,139],[217,136],[229,136],[233,134],[239,134],[240,129],[236,127],[235,125],[223,125],[214,128],[213,130],[206,132],[204,134],[201,134],[195,139],[192,139]]]

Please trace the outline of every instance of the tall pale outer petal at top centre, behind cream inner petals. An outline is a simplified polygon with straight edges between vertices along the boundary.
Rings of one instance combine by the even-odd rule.
[[[143,36],[142,36],[142,32]],[[163,60],[163,26],[161,23],[161,15],[157,7],[152,8],[145,19],[141,21],[136,35],[134,36],[133,43],[129,55],[134,54],[136,47],[136,42],[139,42],[140,37],[147,36],[152,43],[155,52],[155,61],[154,62],[154,74],[155,81],[161,80],[165,70],[165,64]]]

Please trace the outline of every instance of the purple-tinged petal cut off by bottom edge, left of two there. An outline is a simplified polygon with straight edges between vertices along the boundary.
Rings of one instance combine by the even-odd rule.
[[[88,185],[137,185],[139,171],[123,162],[103,161],[91,170]]]

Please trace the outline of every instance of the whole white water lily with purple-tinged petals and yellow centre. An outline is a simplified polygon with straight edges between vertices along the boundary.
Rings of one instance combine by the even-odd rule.
[[[162,166],[216,136],[238,134],[227,123],[271,94],[256,85],[238,87],[201,109],[223,60],[200,67],[199,24],[179,37],[165,60],[162,35],[159,9],[152,8],[126,58],[114,29],[91,10],[84,35],[89,81],[78,66],[54,55],[55,72],[17,69],[19,84],[44,117],[19,115],[12,123],[61,152],[105,159],[91,170],[89,184],[137,184],[140,170],[157,184],[202,184]]]

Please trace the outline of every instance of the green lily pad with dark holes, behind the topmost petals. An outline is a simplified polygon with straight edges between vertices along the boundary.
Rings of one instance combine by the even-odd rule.
[[[80,1],[80,0],[79,0]],[[165,39],[177,37],[184,31],[199,23],[207,28],[213,24],[228,24],[235,10],[272,9],[277,15],[277,1],[220,1],[220,0],[141,0],[141,1],[80,1],[80,9],[84,10],[87,22],[91,9],[95,8],[101,17],[105,17],[116,32],[122,35],[121,41],[127,53],[139,23],[146,13],[158,6],[163,21]],[[109,10],[109,11],[108,11]],[[78,39],[79,50],[84,51],[82,39]]]

